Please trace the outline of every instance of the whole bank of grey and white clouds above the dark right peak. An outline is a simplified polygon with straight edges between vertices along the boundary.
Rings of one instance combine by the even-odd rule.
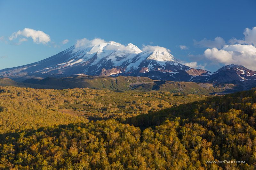
[[[194,44],[207,48],[203,56],[210,61],[226,65],[234,63],[256,70],[256,27],[246,28],[243,34],[243,39],[232,38],[229,40],[229,44],[226,44],[221,37],[216,37],[214,41],[194,40]]]

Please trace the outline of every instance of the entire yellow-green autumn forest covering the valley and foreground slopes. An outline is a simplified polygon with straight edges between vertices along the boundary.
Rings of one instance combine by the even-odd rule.
[[[256,168],[256,89],[1,87],[0,116],[0,169]]]

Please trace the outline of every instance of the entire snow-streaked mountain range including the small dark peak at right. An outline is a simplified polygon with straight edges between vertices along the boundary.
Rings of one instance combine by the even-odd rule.
[[[76,45],[42,61],[0,70],[0,77],[141,76],[156,80],[224,82],[256,80],[256,72],[228,65],[211,73],[181,64],[171,51],[159,46],[138,48],[102,39],[77,41]],[[225,76],[226,75],[226,76]]]

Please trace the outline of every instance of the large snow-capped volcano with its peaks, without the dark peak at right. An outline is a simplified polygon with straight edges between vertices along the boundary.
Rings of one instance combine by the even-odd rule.
[[[65,77],[76,74],[143,76],[154,71],[174,74],[175,71],[190,69],[179,63],[170,50],[163,47],[144,46],[141,50],[132,43],[123,45],[102,39],[82,39],[67,50],[42,61],[0,70],[0,76]],[[152,76],[154,75],[155,73]]]

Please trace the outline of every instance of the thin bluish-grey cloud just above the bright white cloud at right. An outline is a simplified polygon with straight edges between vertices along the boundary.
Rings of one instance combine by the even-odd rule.
[[[226,42],[223,38],[221,37],[216,37],[213,41],[212,40],[207,40],[204,38],[201,41],[196,41],[194,40],[194,45],[198,47],[206,47],[206,48],[222,48],[224,45],[226,45]]]

